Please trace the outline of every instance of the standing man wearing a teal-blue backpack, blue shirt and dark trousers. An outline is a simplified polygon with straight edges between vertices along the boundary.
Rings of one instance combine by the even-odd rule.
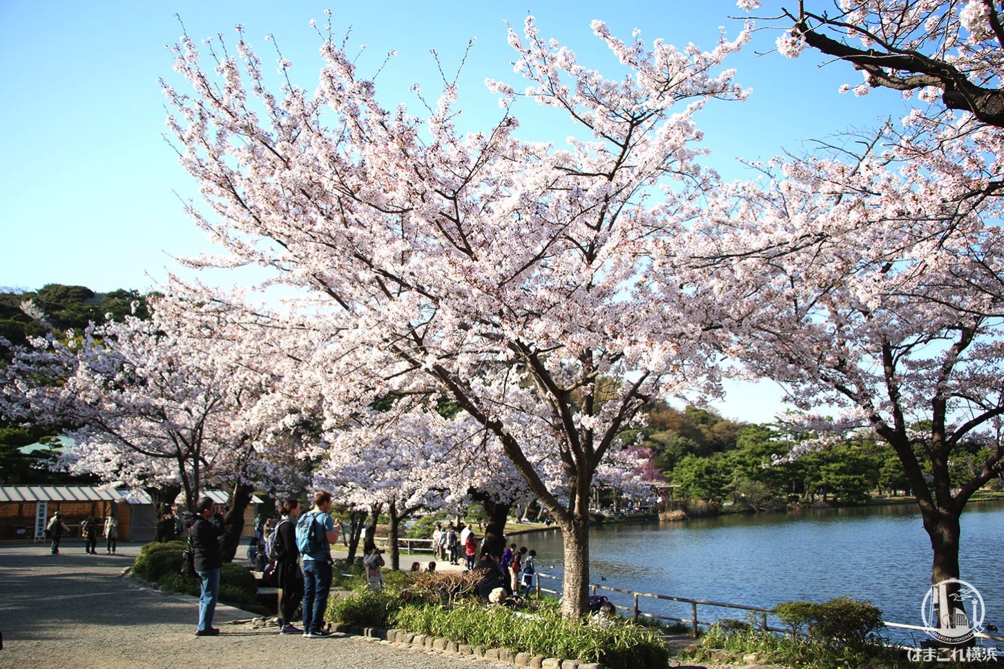
[[[324,609],[331,590],[331,544],[338,532],[330,511],[331,493],[318,490],[313,509],[296,522],[296,548],[303,557],[303,636],[308,639],[331,636],[324,630]]]

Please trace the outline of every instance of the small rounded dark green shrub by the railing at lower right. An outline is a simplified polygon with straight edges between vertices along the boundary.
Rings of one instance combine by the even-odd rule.
[[[804,626],[810,637],[834,647],[859,647],[882,627],[882,611],[870,602],[837,597],[828,602],[784,602],[774,613],[797,634]]]

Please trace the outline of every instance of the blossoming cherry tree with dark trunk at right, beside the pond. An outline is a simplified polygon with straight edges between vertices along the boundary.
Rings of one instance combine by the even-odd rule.
[[[1004,472],[1002,212],[974,195],[1000,175],[966,137],[888,127],[865,144],[778,159],[724,192],[693,229],[689,282],[747,373],[805,411],[843,409],[814,427],[893,447],[938,583],[960,578],[967,500]]]

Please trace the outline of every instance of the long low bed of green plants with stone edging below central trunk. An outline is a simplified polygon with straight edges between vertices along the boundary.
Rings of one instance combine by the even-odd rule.
[[[586,621],[569,622],[562,619],[555,605],[541,607],[532,615],[501,607],[485,608],[470,600],[451,610],[437,605],[408,606],[391,622],[458,643],[598,662],[607,669],[662,668],[670,657],[658,632],[631,623],[606,627]]]

